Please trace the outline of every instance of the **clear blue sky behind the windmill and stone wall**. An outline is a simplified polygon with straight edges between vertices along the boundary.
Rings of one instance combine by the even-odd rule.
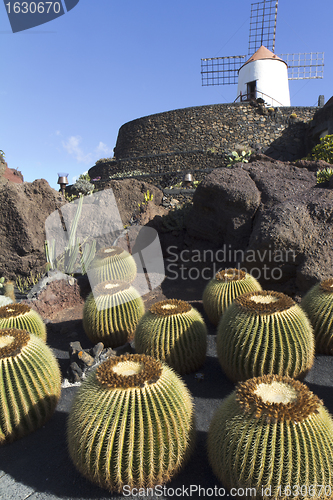
[[[203,87],[200,59],[247,54],[251,0],[80,0],[47,24],[12,33],[0,4],[0,149],[24,179],[58,189],[113,155],[136,118],[232,102],[237,86]],[[325,52],[324,79],[290,82],[293,106],[333,95],[333,6],[280,0],[277,54]]]

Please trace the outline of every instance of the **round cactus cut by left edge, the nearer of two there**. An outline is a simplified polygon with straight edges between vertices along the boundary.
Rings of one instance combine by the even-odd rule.
[[[60,370],[51,349],[25,330],[0,330],[0,444],[44,425],[60,390]]]

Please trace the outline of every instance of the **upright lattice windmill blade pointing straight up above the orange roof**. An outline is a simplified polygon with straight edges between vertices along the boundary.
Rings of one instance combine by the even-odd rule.
[[[267,0],[251,4],[249,55],[261,45],[275,51],[275,32],[278,0]]]

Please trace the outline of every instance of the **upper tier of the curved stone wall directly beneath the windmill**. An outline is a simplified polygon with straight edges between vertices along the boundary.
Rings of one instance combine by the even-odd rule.
[[[208,149],[268,147],[289,129],[313,117],[314,107],[263,108],[250,103],[215,104],[145,116],[125,123],[118,133],[115,157]],[[293,113],[297,117],[293,118]],[[296,125],[296,127],[295,127]]]

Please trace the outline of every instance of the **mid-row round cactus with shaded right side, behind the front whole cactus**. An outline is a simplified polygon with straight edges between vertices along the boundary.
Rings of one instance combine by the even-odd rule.
[[[197,370],[206,359],[206,325],[184,300],[153,304],[139,321],[134,338],[136,352],[165,361],[181,374]]]

